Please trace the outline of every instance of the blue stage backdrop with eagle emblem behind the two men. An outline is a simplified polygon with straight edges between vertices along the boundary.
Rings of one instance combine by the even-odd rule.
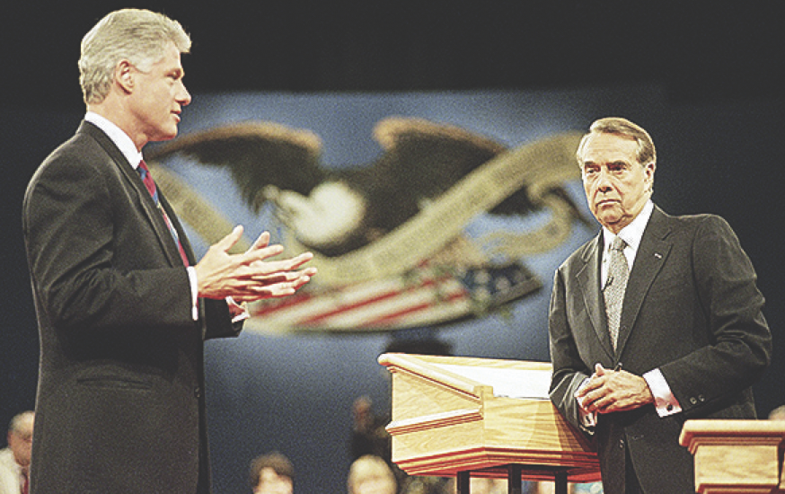
[[[353,401],[365,395],[388,411],[376,363],[387,348],[548,360],[553,271],[598,231],[574,160],[596,118],[623,116],[652,134],[657,204],[734,226],[775,301],[767,315],[777,332],[782,268],[761,229],[782,226],[769,163],[782,110],[782,101],[679,106],[652,86],[196,94],[180,137],[146,158],[198,255],[241,224],[238,250],[267,230],[290,253],[313,251],[320,269],[297,296],[251,304],[237,340],[207,343],[216,494],[250,492],[248,465],[271,450],[295,463],[297,494],[345,492]],[[63,139],[80,118],[57,127]],[[27,164],[29,177],[38,163]],[[34,320],[19,319],[28,329],[14,341],[27,355],[2,357],[25,359],[13,368],[29,374]],[[762,414],[785,402],[772,377],[781,369],[778,360],[756,389]],[[14,405],[30,396],[14,390]]]

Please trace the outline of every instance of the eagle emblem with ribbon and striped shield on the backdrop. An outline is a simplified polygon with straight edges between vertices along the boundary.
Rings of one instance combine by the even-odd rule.
[[[588,223],[564,190],[579,177],[580,136],[509,148],[453,125],[391,117],[374,129],[371,163],[321,161],[307,129],[244,121],[183,135],[147,161],[178,215],[208,242],[232,222],[169,172],[179,155],[228,170],[245,205],[272,207],[287,250],[319,269],[301,293],[251,305],[260,331],[391,331],[437,326],[504,307],[542,281],[523,258]],[[478,216],[537,216],[527,231],[469,234]]]

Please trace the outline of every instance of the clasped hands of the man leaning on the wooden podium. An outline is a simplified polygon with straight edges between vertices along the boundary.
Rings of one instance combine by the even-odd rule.
[[[654,402],[643,377],[624,370],[605,369],[601,364],[596,364],[595,373],[575,393],[575,397],[590,413],[633,410]]]

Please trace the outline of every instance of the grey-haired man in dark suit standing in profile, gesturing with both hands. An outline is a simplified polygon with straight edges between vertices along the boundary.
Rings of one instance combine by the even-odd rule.
[[[236,336],[244,302],[287,296],[310,253],[242,227],[196,262],[141,150],[177,134],[190,94],[178,22],[110,13],[82,43],[87,114],[33,176],[23,227],[40,328],[31,492],[210,491],[203,340]],[[144,178],[143,178],[144,177]]]

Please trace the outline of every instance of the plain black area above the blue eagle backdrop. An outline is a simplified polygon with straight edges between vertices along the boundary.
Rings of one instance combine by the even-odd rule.
[[[81,108],[79,41],[119,2],[2,16],[5,105]],[[192,91],[409,91],[658,82],[679,101],[781,94],[781,2],[140,2],[194,40]]]

